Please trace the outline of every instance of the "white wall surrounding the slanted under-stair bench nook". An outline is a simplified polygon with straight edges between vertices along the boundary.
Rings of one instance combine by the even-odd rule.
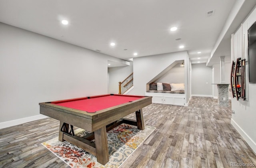
[[[151,81],[159,73],[164,71],[174,61],[184,60],[184,83],[185,93],[187,93],[190,83],[188,80],[188,53],[187,51],[180,51],[175,53],[165,53],[159,55],[150,55],[146,57],[138,57],[133,59],[134,72],[134,89],[128,94],[145,95],[146,83]],[[188,95],[186,95],[186,102],[188,102]]]

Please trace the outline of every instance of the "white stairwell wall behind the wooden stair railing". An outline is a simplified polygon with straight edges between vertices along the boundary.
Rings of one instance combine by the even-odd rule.
[[[118,82],[122,82],[133,72],[133,62],[129,66],[108,68],[108,93],[118,94]]]

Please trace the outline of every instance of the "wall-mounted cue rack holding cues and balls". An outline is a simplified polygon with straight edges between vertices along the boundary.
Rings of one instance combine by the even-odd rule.
[[[231,90],[233,98],[236,97],[236,100],[242,99],[245,100],[245,59],[238,58],[236,61],[232,61],[231,67]]]

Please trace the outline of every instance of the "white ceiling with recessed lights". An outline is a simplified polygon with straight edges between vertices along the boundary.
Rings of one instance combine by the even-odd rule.
[[[192,63],[206,63],[235,2],[0,0],[0,22],[121,59],[187,50]]]

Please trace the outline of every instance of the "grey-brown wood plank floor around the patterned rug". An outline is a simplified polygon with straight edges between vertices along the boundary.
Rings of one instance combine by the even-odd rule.
[[[188,107],[152,104],[143,114],[145,125],[156,130],[122,168],[227,168],[232,162],[256,165],[256,155],[230,124],[231,108],[218,106],[216,99],[192,97]],[[135,115],[127,118],[135,119]],[[58,136],[58,128],[59,121],[46,118],[1,129],[0,167],[69,167],[41,145]]]

